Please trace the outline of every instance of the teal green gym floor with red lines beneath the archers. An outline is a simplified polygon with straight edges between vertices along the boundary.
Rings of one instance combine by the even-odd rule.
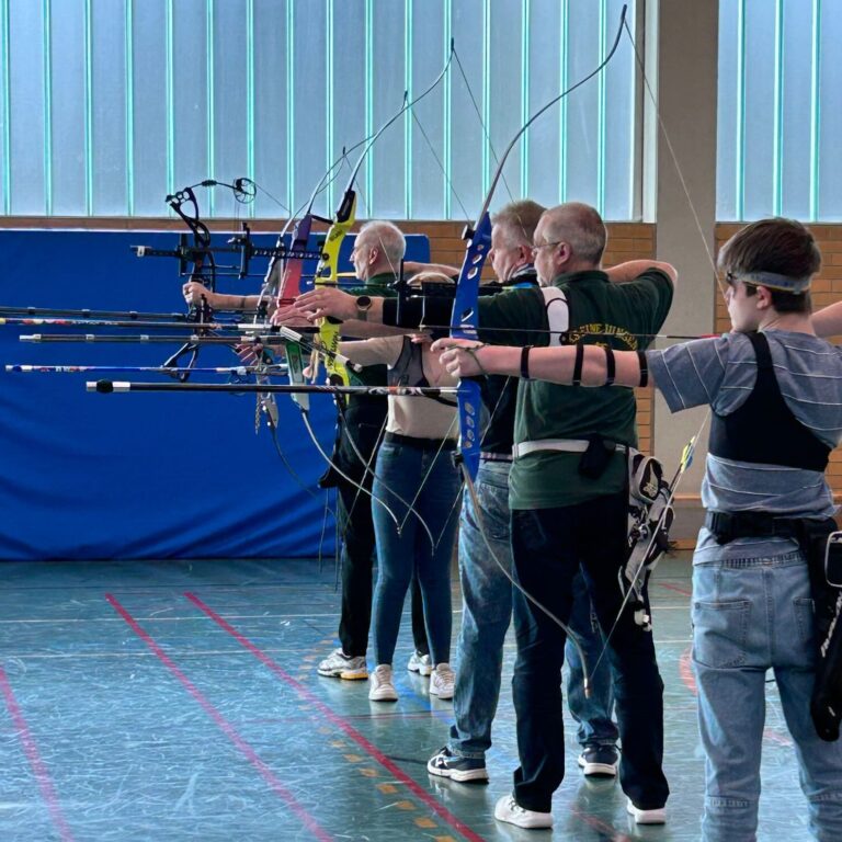
[[[317,674],[335,646],[332,564],[7,562],[2,578],[2,842],[699,838],[686,557],[662,561],[651,588],[669,823],[635,827],[615,782],[583,778],[569,727],[551,832],[492,817],[517,756],[511,639],[491,781],[454,784],[426,773],[452,706],[403,669],[408,618],[397,704],[369,703],[367,682]],[[454,607],[455,636],[457,593]],[[769,687],[759,838],[799,842],[809,839],[806,804]]]

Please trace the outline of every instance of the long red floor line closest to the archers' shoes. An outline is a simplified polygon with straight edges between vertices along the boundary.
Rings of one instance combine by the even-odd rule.
[[[209,605],[206,605],[202,600],[193,593],[184,594],[200,611],[205,613],[210,619],[218,626],[225,629],[240,646],[248,649],[259,661],[268,667],[275,673],[282,681],[288,684],[293,690],[298,693],[299,696],[306,698],[310,704],[317,707],[321,714],[330,722],[342,730],[348,737],[350,737],[360,748],[362,748],[371,758],[374,758],[382,766],[384,766],[390,774],[392,774],[398,781],[400,781],[419,800],[423,801],[431,810],[437,813],[444,821],[446,821],[454,830],[459,832],[465,839],[470,842],[485,842],[482,837],[471,830],[464,821],[456,818],[446,807],[442,806],[430,793],[423,787],[419,786],[409,775],[389,760],[376,746],[369,742],[363,737],[360,731],[356,730],[350,722],[348,722],[339,714],[328,707],[321,702],[316,694],[311,693],[299,681],[296,681],[288,672],[286,672],[276,661],[273,661],[265,652],[259,649],[247,637],[241,635],[234,626],[227,621],[223,619]]]

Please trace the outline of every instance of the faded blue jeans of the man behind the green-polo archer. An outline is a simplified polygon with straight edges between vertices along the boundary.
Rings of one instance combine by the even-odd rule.
[[[512,583],[500,569],[502,565],[510,574],[512,572],[510,467],[510,463],[483,460],[475,483],[482,527],[497,560],[482,541],[477,512],[467,489],[463,498],[459,524],[463,613],[456,645],[455,722],[451,726],[448,749],[465,758],[481,759],[491,746],[491,722],[500,696],[503,640],[512,617]],[[602,637],[581,573],[573,581],[573,592],[570,626],[582,641],[589,669],[593,670],[602,650]],[[591,698],[585,699],[581,661],[570,642],[566,657],[570,667],[568,707],[579,722],[579,742],[582,746],[613,746],[617,729],[611,720],[614,699],[607,658],[603,658],[591,676]]]

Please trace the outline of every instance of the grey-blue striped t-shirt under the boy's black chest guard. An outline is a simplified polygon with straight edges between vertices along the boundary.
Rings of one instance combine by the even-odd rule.
[[[830,447],[842,439],[842,354],[808,333],[765,331],[775,377],[787,407]],[[670,410],[709,405],[720,416],[740,407],[751,394],[758,364],[743,333],[726,333],[647,351],[649,367]],[[781,447],[786,447],[781,442]],[[784,517],[828,517],[835,512],[824,475],[780,465],[736,462],[708,454],[702,482],[706,509],[750,509]],[[695,561],[778,555],[795,549],[788,538],[740,538],[719,546],[703,528]]]

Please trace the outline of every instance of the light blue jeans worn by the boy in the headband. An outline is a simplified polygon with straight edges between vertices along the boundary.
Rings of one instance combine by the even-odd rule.
[[[842,840],[842,742],[810,718],[815,640],[807,564],[798,551],[693,568],[693,665],[706,755],[707,842],[755,839],[766,670],[774,670],[795,741],[810,824]]]

